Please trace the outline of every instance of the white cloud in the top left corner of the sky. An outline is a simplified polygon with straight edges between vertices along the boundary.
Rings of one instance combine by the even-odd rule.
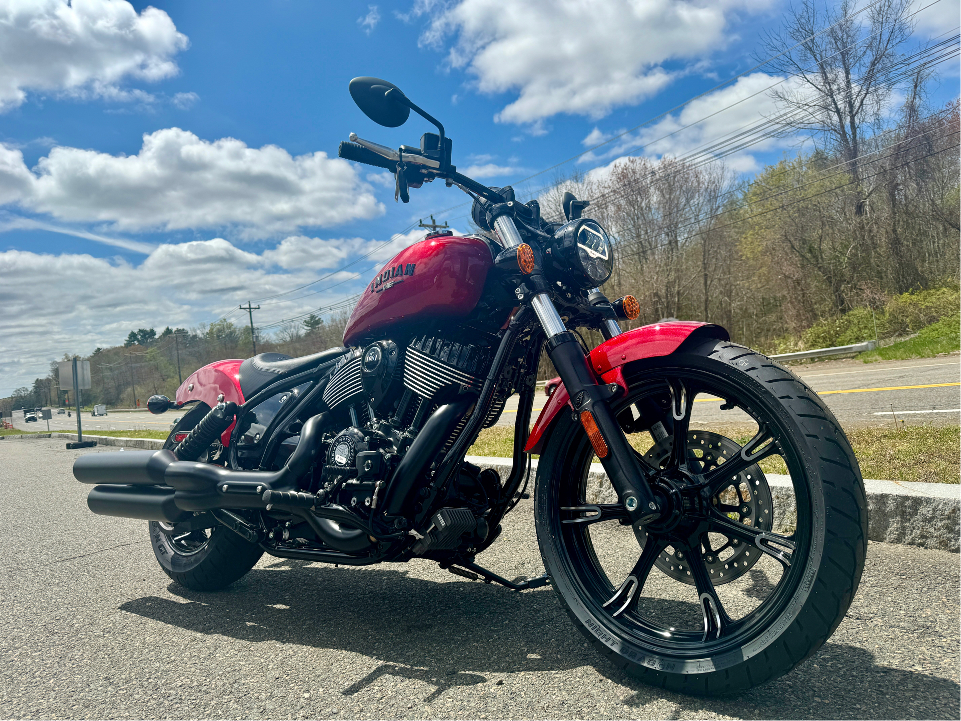
[[[0,112],[30,90],[142,102],[117,84],[176,75],[187,44],[166,12],[125,0],[0,0]]]

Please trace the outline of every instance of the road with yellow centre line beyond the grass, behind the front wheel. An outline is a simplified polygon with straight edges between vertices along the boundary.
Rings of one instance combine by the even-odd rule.
[[[843,426],[890,424],[897,417],[906,425],[957,423],[961,417],[961,365],[956,354],[916,360],[825,360],[793,365],[791,369],[814,388]],[[923,386],[923,387],[917,387]],[[926,386],[926,387],[924,387]],[[740,410],[720,410],[721,402],[699,396],[695,423],[738,423],[750,419]],[[547,398],[538,388],[532,418]],[[510,398],[499,426],[514,424],[517,396]],[[894,415],[892,415],[894,413]]]

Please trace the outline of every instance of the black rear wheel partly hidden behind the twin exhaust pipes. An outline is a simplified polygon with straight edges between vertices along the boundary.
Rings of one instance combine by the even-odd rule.
[[[185,433],[196,426],[209,411],[197,404],[174,426],[163,447],[174,448]],[[200,457],[208,461],[221,455],[222,448],[211,446]],[[224,526],[179,530],[175,524],[149,522],[150,543],[160,568],[178,584],[195,591],[214,591],[247,573],[263,551],[256,543],[236,535]]]

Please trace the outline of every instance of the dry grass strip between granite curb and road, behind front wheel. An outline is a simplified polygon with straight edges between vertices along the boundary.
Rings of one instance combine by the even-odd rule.
[[[752,430],[747,426],[707,426],[704,430],[726,435],[740,445],[752,437]],[[934,484],[956,484],[961,480],[961,425],[905,426],[899,429],[866,426],[850,428],[845,433],[864,478]],[[641,453],[646,453],[652,445],[647,433],[628,435],[628,439]],[[512,427],[494,426],[482,431],[467,453],[470,456],[510,458],[513,443]],[[760,465],[766,473],[787,473],[779,456],[762,460]]]

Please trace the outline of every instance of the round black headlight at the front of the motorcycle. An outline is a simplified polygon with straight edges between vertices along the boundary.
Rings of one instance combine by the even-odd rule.
[[[562,225],[551,241],[554,269],[580,288],[602,286],[614,270],[614,249],[596,220],[579,218]]]

